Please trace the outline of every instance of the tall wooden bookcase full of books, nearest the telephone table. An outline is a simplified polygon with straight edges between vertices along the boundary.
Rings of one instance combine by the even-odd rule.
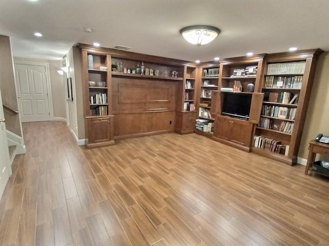
[[[252,152],[297,163],[302,129],[317,63],[322,51],[269,54],[265,59],[261,119]]]

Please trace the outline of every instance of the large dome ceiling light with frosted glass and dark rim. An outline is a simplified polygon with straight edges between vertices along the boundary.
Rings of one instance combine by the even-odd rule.
[[[189,26],[180,30],[185,40],[197,47],[209,44],[220,32],[221,30],[216,27],[203,25]]]

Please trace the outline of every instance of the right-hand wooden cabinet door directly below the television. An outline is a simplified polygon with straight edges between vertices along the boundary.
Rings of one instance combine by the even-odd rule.
[[[230,140],[236,144],[250,147],[252,124],[243,120],[230,120]]]

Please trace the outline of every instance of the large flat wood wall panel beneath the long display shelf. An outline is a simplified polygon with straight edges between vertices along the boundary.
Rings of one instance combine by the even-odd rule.
[[[174,131],[176,83],[112,77],[115,137]]]

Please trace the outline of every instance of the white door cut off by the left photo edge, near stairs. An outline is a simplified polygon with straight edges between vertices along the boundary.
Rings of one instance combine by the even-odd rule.
[[[2,106],[2,97],[0,91],[0,199],[7,185],[9,175],[11,174],[11,167],[9,161],[9,150],[6,135],[6,125],[4,109]]]

